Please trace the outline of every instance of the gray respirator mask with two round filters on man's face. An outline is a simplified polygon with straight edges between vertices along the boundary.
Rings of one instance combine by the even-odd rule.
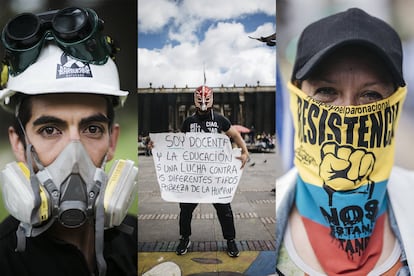
[[[106,174],[80,141],[69,143],[48,166],[42,166],[30,144],[26,155],[27,166],[12,162],[1,173],[5,206],[20,221],[17,250],[25,249],[25,237],[40,235],[55,221],[77,228],[94,220],[99,266],[103,230],[125,218],[137,192],[138,168],[131,160],[116,160]]]

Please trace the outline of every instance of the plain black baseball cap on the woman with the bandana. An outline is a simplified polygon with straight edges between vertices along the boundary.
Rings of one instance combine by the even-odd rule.
[[[386,22],[358,8],[322,18],[303,30],[292,81],[307,79],[326,56],[347,45],[361,45],[373,50],[389,68],[395,84],[405,86],[399,35]]]

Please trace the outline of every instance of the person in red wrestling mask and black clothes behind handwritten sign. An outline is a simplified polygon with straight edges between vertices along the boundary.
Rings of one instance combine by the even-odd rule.
[[[231,126],[230,121],[223,115],[213,110],[213,90],[202,85],[194,91],[194,104],[196,112],[186,118],[181,126],[182,132],[207,132],[221,133],[233,139],[239,148],[241,148],[241,156],[238,157],[242,162],[242,168],[246,164],[249,153],[246,144],[240,133]],[[197,203],[180,203],[180,243],[175,252],[177,255],[184,255],[190,246],[191,235],[191,219]],[[233,211],[230,203],[214,203],[217,216],[223,231],[223,237],[227,240],[227,254],[230,257],[238,257],[240,252],[237,248],[236,230],[234,227]]]

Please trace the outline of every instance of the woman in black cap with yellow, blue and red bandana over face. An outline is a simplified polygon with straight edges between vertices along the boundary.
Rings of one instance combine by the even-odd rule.
[[[295,168],[276,181],[279,275],[414,273],[414,173],[393,165],[402,62],[397,32],[358,8],[303,30],[288,84]]]

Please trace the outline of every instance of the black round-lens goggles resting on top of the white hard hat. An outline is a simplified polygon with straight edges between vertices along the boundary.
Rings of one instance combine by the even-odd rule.
[[[10,74],[18,75],[34,63],[44,43],[51,40],[80,61],[105,64],[115,47],[102,29],[103,21],[87,8],[20,14],[7,23],[1,37]]]

